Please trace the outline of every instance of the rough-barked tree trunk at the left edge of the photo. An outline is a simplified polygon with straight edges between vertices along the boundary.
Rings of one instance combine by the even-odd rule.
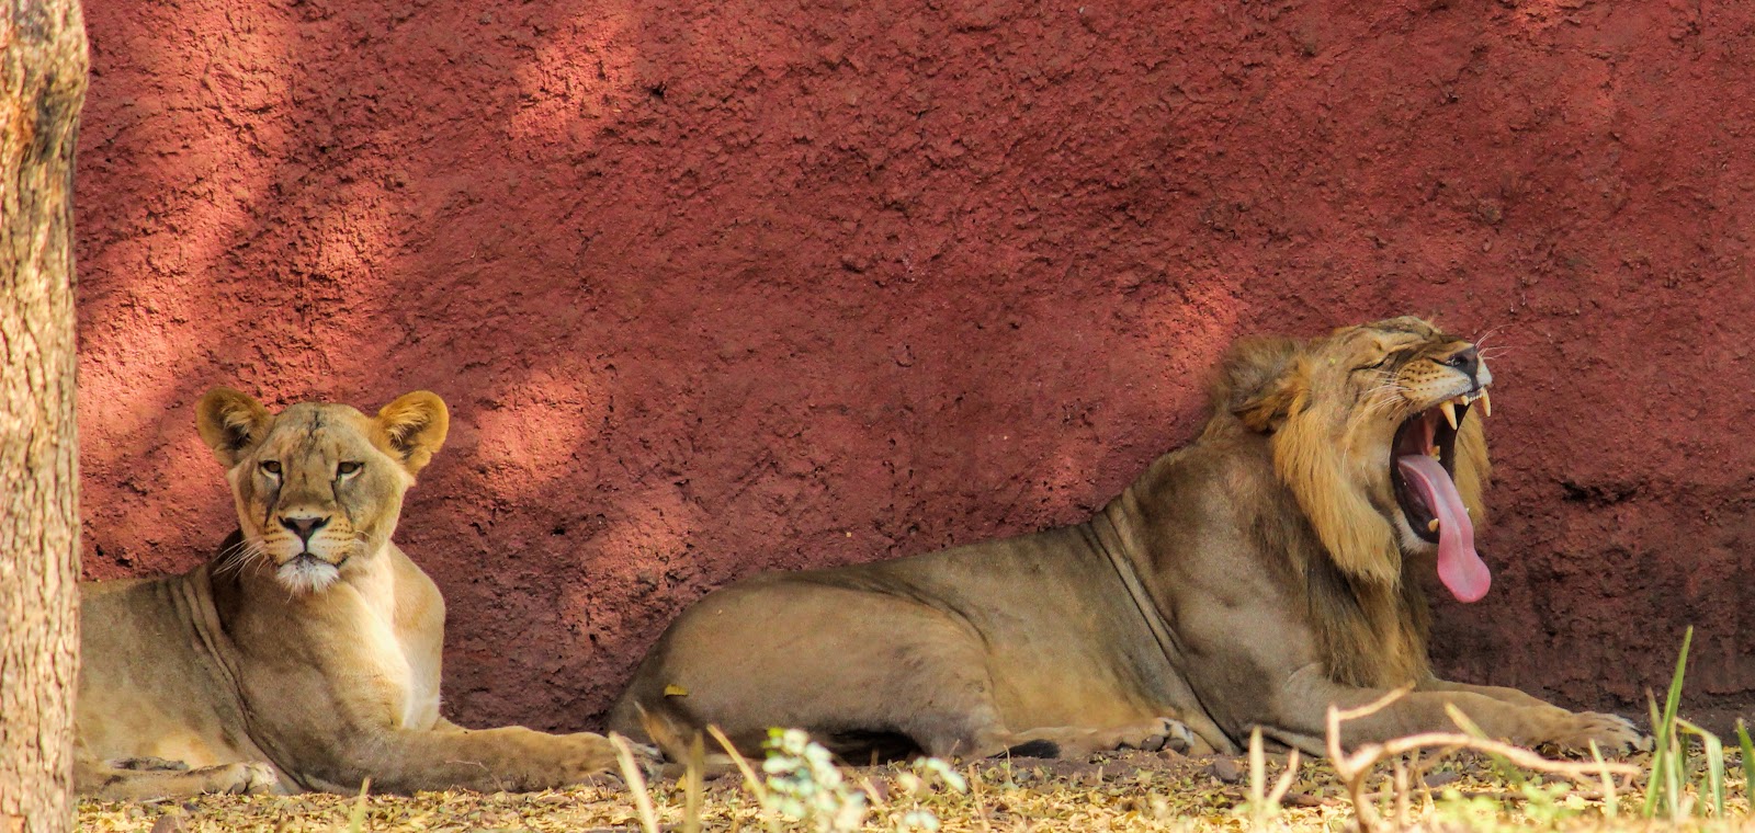
[[[77,0],[0,0],[0,833],[74,824]]]

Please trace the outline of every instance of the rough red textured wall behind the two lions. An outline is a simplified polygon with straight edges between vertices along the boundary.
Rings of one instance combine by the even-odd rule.
[[[770,566],[1078,521],[1239,333],[1488,333],[1465,679],[1755,691],[1755,5],[90,0],[86,573],[230,530],[191,405],[451,403],[465,723],[597,726]],[[1643,705],[1637,705],[1643,710]]]

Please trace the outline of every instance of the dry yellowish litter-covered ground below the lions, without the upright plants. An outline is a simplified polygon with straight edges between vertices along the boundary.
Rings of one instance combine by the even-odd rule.
[[[1734,752],[1732,752],[1734,756]],[[1285,772],[1283,756],[1265,756],[1262,777],[1267,789]],[[1644,756],[1629,763],[1644,768]],[[1704,766],[1704,761],[1697,761]],[[1637,784],[1618,794],[1620,814],[1604,817],[1604,800],[1587,787],[1537,782],[1490,758],[1458,752],[1425,770],[1423,784],[1402,768],[1406,789],[1395,787],[1395,768],[1379,766],[1367,779],[1365,800],[1393,826],[1397,803],[1406,805],[1408,824],[1425,829],[1648,829],[1637,817],[1643,793]],[[872,812],[862,829],[900,829],[904,814],[916,808],[937,815],[942,831],[1100,831],[1100,829],[1353,829],[1355,808],[1348,786],[1325,761],[1300,765],[1278,814],[1250,810],[1251,766],[1248,758],[1183,758],[1178,754],[1127,752],[1092,761],[983,761],[963,768],[969,791],[942,786],[909,793],[899,766],[851,768],[853,786],[865,791]],[[1732,768],[1732,772],[1737,772]],[[1699,773],[1695,773],[1699,775]],[[1737,784],[1741,787],[1741,784]],[[1258,787],[1260,789],[1260,787]],[[658,822],[683,828],[684,786],[676,780],[649,786]],[[1743,789],[1727,807],[1725,821],[1697,819],[1685,826],[1701,829],[1746,829],[1748,805]],[[535,829],[591,831],[642,829],[641,814],[620,786],[577,787],[537,794],[426,793],[412,798],[367,796],[363,805],[349,796],[209,796],[186,803],[91,803],[81,805],[79,822],[93,831],[149,831],[158,824],[184,831],[346,831],[355,812],[363,810],[356,829],[367,831],[462,831]],[[167,815],[174,821],[167,821]],[[704,829],[811,829],[806,824],[765,814],[748,791],[742,775],[707,780],[702,801]],[[1671,824],[1664,824],[1669,828]]]

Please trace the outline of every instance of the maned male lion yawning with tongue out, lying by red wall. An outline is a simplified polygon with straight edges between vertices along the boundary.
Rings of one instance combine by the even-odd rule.
[[[714,591],[651,649],[611,728],[663,742],[716,724],[753,751],[797,726],[865,761],[1237,752],[1260,726],[1323,754],[1330,705],[1413,686],[1343,742],[1455,730],[1455,703],[1522,744],[1637,744],[1618,716],[1427,665],[1418,575],[1436,563],[1462,602],[1490,582],[1471,416],[1492,381],[1474,345],[1416,317],[1239,342],[1200,437],[1090,521]]]

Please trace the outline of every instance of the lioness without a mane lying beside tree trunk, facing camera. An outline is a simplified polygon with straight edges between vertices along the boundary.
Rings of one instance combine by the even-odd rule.
[[[121,800],[300,789],[546,789],[616,766],[600,735],[439,716],[444,598],[390,535],[444,442],[439,396],[376,417],[226,388],[197,405],[239,531],[168,579],[93,582],[79,612],[75,786]]]

